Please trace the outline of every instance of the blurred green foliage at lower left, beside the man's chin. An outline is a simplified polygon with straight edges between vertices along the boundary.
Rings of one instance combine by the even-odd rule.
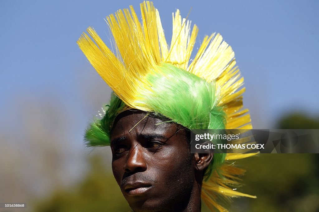
[[[35,202],[34,211],[131,211],[102,157],[97,154],[89,157],[89,164],[90,169],[83,181]]]

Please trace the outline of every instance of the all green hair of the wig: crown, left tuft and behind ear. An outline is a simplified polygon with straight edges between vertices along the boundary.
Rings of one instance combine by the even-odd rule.
[[[215,83],[208,83],[190,72],[174,65],[162,64],[159,72],[145,76],[149,89],[137,94],[152,112],[163,115],[188,129],[225,129],[225,114],[218,107]],[[85,133],[88,147],[110,145],[110,132],[115,117],[125,104],[112,94],[105,116],[92,123]],[[205,172],[207,180],[213,170],[224,162],[226,154],[214,154],[213,161]]]

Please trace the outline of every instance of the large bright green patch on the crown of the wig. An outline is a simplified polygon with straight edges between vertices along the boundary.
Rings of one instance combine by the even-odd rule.
[[[222,108],[218,107],[215,83],[171,64],[145,76],[150,91],[140,95],[152,111],[161,113],[188,129],[225,129]]]

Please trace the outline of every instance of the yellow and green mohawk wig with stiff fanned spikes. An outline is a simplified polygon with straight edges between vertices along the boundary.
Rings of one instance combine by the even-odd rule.
[[[235,66],[234,51],[219,34],[206,36],[190,59],[198,29],[173,13],[173,35],[168,45],[159,12],[152,2],[140,4],[142,23],[133,7],[109,15],[115,53],[93,28],[78,40],[80,49],[114,95],[105,116],[86,130],[87,146],[108,146],[115,117],[125,108],[163,115],[188,129],[251,129],[242,109],[244,79]],[[91,36],[91,38],[89,37]],[[230,197],[255,196],[234,191],[244,170],[229,160],[253,154],[215,154],[202,186],[202,200],[211,210],[226,209]]]

